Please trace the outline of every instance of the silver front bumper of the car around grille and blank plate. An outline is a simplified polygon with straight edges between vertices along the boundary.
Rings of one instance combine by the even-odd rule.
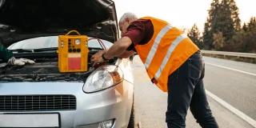
[[[0,95],[72,94],[76,97],[76,110],[0,111],[0,114],[59,114],[62,128],[97,128],[99,122],[110,119],[114,119],[114,127],[128,125],[133,84],[124,80],[117,86],[91,94],[84,93],[82,86],[76,82],[0,83]]]

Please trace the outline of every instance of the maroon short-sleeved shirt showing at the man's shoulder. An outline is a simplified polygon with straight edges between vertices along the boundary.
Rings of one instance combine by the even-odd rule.
[[[126,34],[133,42],[127,50],[135,50],[134,46],[136,45],[144,45],[147,42],[150,42],[154,34],[154,26],[149,19],[138,19],[128,26]]]

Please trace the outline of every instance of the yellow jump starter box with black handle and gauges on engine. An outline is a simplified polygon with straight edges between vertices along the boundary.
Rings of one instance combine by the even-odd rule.
[[[69,35],[76,32],[78,35]],[[84,72],[88,70],[88,37],[76,30],[58,36],[58,70],[66,72]]]

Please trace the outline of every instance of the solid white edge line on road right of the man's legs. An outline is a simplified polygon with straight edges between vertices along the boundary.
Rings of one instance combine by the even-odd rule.
[[[243,114],[240,110],[237,110],[227,102],[223,101],[221,98],[218,98],[216,95],[210,93],[210,91],[206,90],[206,94],[209,95],[211,98],[214,98],[214,100],[222,104],[222,106],[225,106],[226,109],[232,111],[234,114],[238,115],[238,117],[248,122],[251,126],[256,127],[256,121],[254,119],[250,118],[246,114]]]

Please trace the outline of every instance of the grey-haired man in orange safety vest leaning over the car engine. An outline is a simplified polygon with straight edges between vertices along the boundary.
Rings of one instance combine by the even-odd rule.
[[[200,126],[217,128],[203,87],[205,64],[198,46],[178,28],[158,18],[126,13],[119,21],[122,38],[109,50],[94,54],[93,65],[110,58],[129,58],[137,52],[150,79],[168,92],[166,123],[185,127],[190,107]]]

